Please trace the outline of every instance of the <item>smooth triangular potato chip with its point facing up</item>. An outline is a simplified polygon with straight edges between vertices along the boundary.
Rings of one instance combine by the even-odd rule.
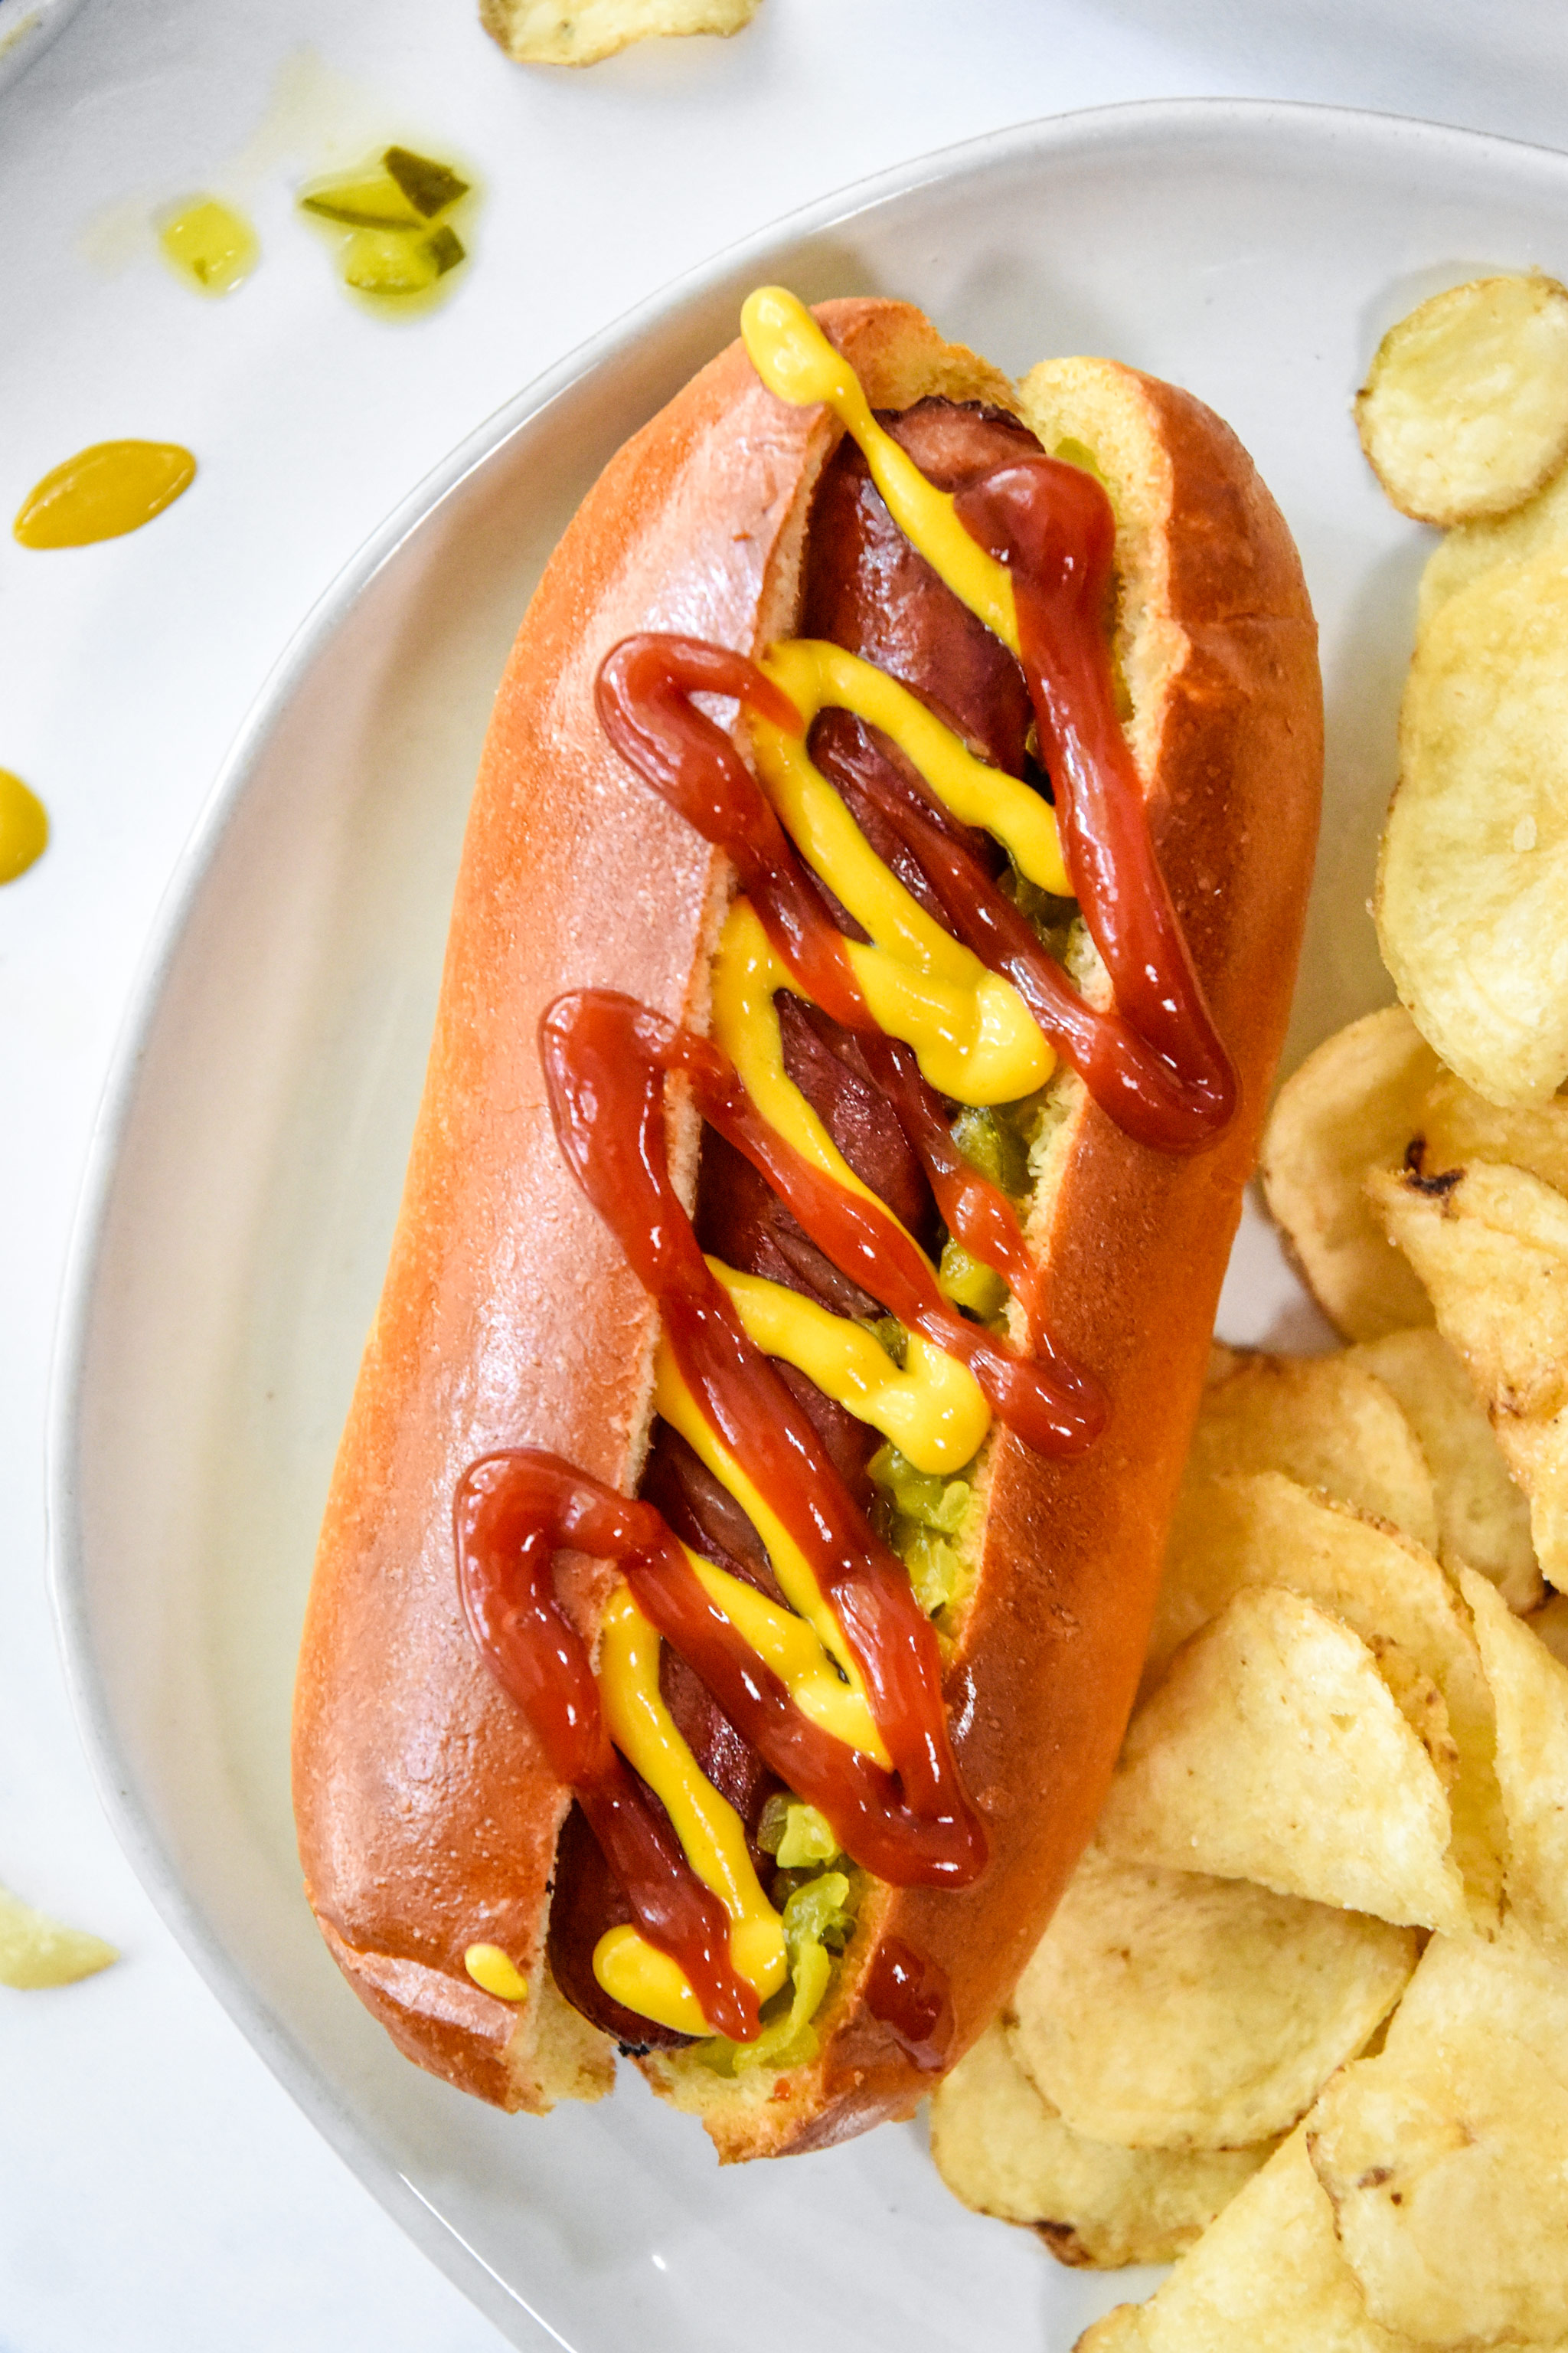
[[[1467,1927],[1432,1758],[1366,1642],[1295,1593],[1241,1591],[1133,1718],[1100,1842],[1408,1927]]]

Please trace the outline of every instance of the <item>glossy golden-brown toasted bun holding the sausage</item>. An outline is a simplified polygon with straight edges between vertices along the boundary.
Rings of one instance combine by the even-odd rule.
[[[990,1838],[961,1894],[875,1887],[818,2017],[820,2057],[722,2080],[644,2071],[724,2158],[820,2148],[926,2089],[870,2017],[886,1937],[950,1977],[952,2057],[1011,1991],[1100,1809],[1131,1708],[1208,1329],[1291,998],[1321,774],[1316,633],[1291,536],[1234,435],[1105,360],[1013,388],[905,304],[818,313],[875,407],[931,393],[1016,409],[1095,452],[1119,522],[1119,661],[1161,866],[1241,1078],[1197,1160],[1131,1144],[1067,1082],[1032,1240],[1053,1329],[1112,1398],[1107,1435],[1046,1461],[987,1442],[983,1537],[947,1699]],[[776,402],[741,346],[614,459],[557,548],[496,701],[458,875],[430,1075],[393,1264],[343,1435],[306,1617],[294,1791],[306,1885],[343,1974],[397,2045],[508,2108],[609,2089],[609,2042],[550,1984],[569,1805],[463,1624],[451,1499],[477,1454],[545,1445],[630,1487],[656,1313],[557,1153],[543,1007],[616,986],[705,1021],[729,878],[604,741],[609,647],[668,628],[757,652],[795,624],[806,506],[837,440]],[[696,1160],[691,1129],[677,1160]],[[562,1562],[592,1640],[604,1565]],[[465,1974],[475,1941],[522,2007]]]

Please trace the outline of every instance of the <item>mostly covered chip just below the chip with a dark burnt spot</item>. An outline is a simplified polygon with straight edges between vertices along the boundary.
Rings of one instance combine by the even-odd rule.
[[[1490,1106],[1483,1108],[1490,1113]],[[1540,1118],[1533,1111],[1490,1115]],[[1441,1146],[1434,1153],[1434,1167],[1453,1167]],[[1530,1506],[1509,1478],[1486,1409],[1448,1341],[1432,1329],[1389,1332],[1354,1348],[1352,1360],[1394,1391],[1420,1440],[1436,1487],[1443,1567],[1450,1574],[1460,1567],[1479,1569],[1509,1609],[1535,1609],[1542,1581],[1530,1544]]]

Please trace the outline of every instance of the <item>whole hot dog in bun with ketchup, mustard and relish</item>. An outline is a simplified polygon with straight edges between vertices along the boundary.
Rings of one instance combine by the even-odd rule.
[[[1321,706],[1229,431],[752,296],[484,748],[322,1527],[327,1944],[508,2108],[907,2113],[1093,1826],[1291,998]],[[1077,908],[1074,908],[1077,901]]]

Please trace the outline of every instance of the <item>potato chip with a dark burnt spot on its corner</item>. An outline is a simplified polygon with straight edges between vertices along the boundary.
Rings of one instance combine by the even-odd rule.
[[[1385,1172],[1368,1193],[1486,1400],[1540,1567],[1568,1586],[1568,1200],[1486,1160]]]

